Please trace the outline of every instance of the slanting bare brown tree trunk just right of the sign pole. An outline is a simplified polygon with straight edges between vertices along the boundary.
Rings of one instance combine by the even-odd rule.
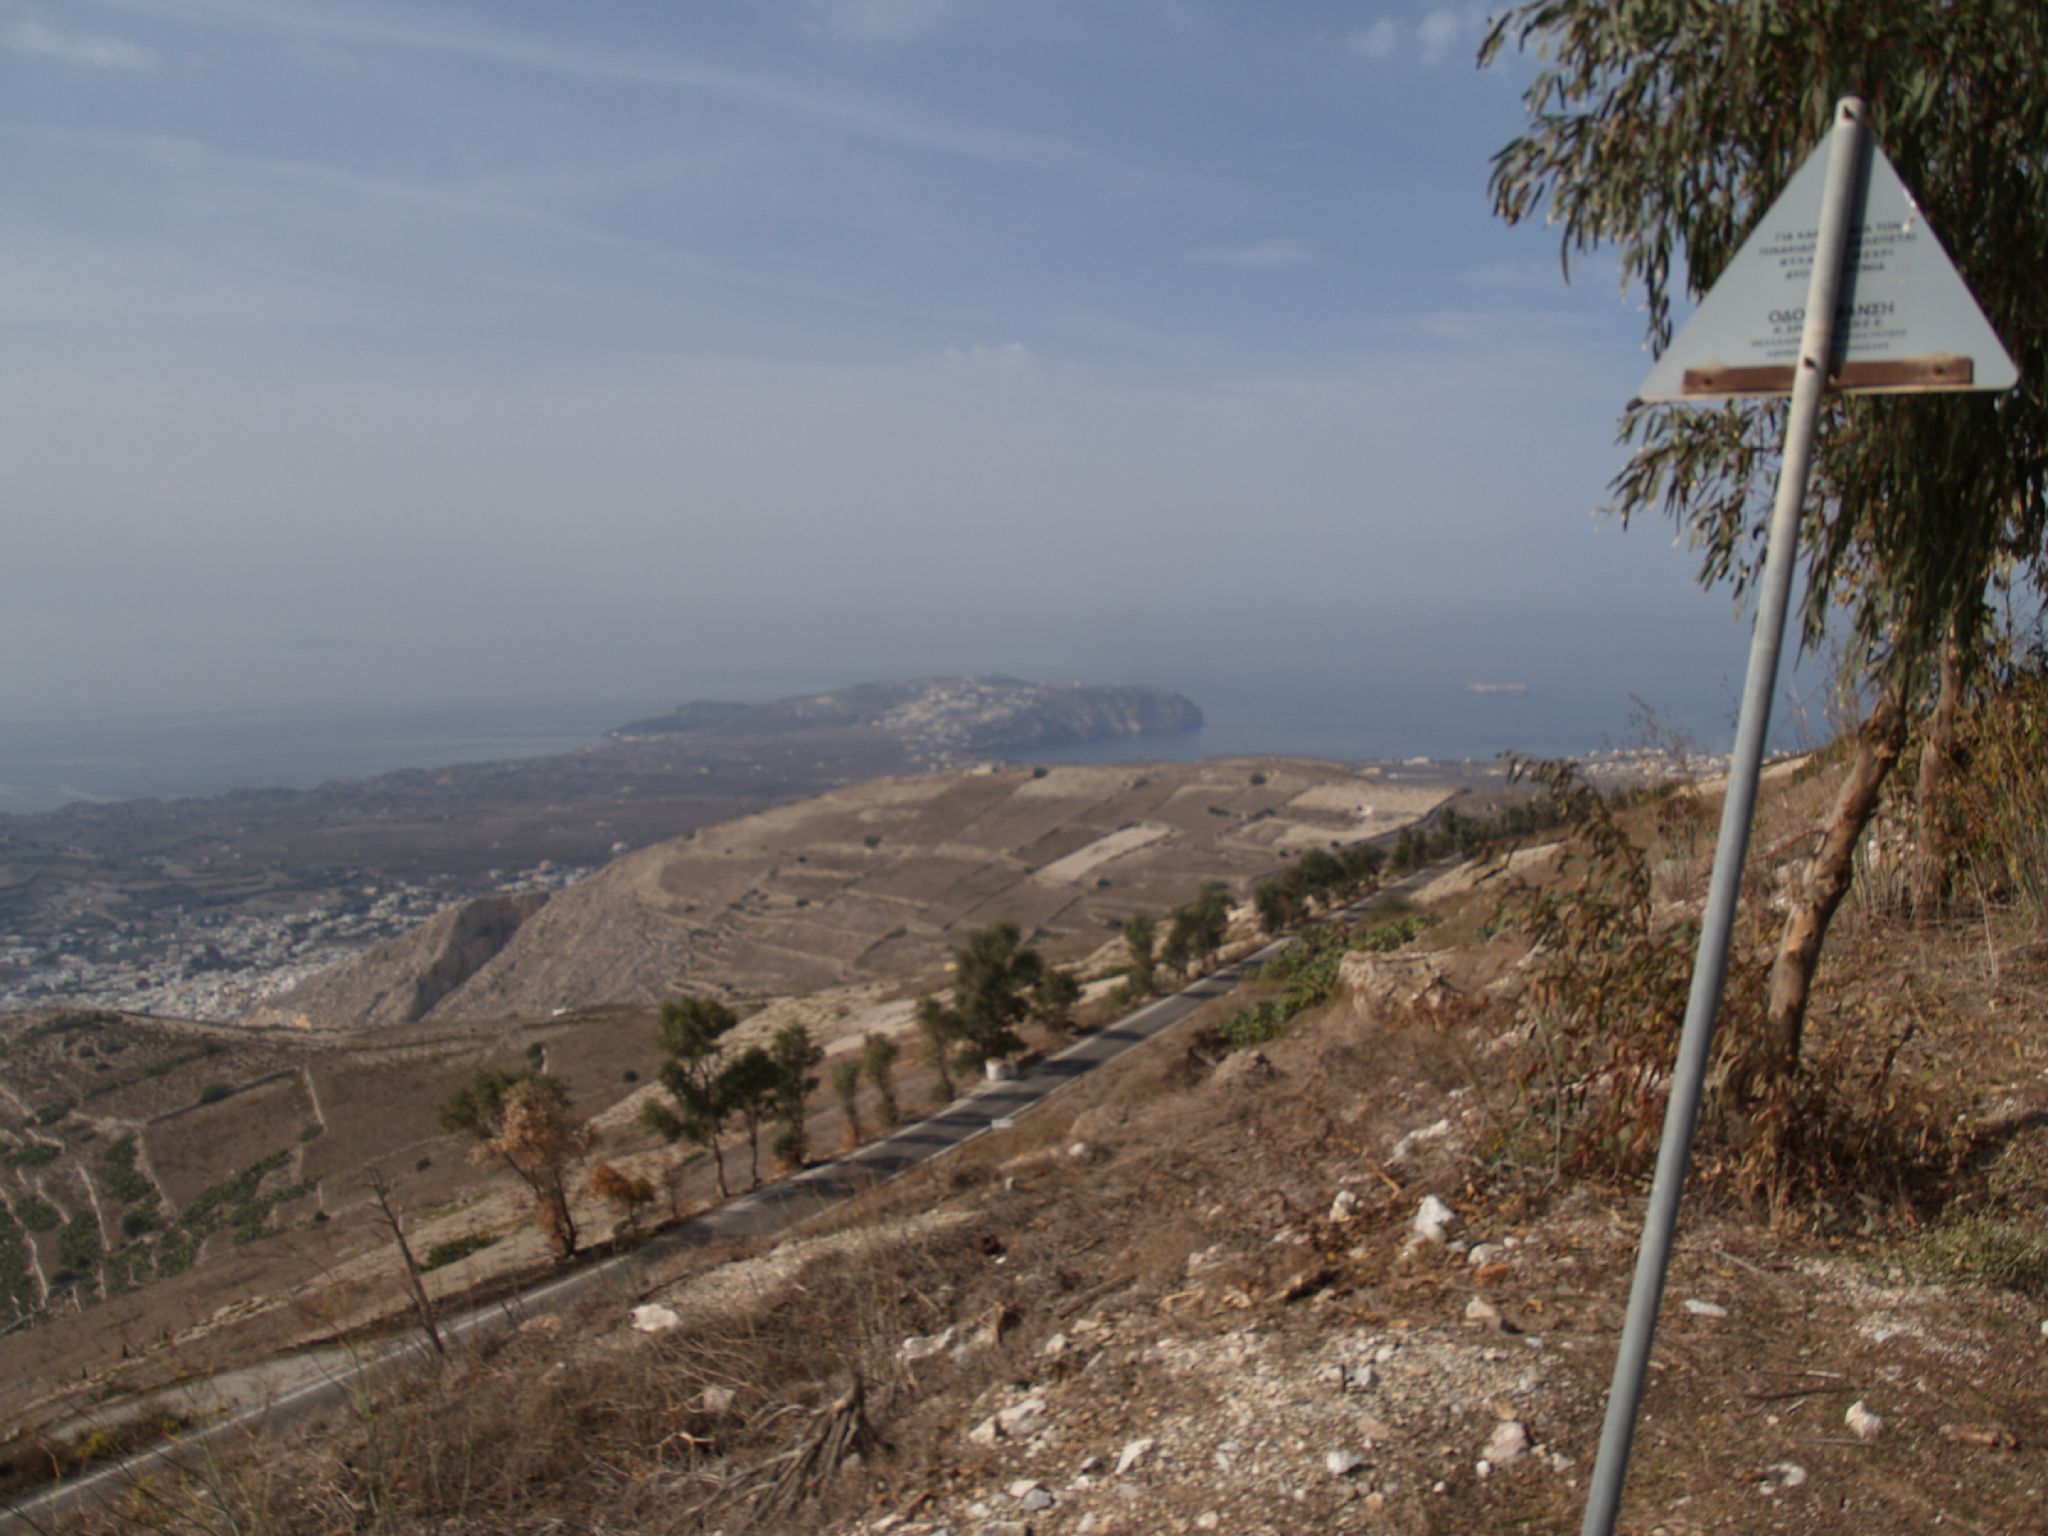
[[[1786,918],[1778,961],[1772,965],[1769,1001],[1763,1010],[1763,1040],[1767,1063],[1780,1077],[1798,1073],[1800,1036],[1806,1028],[1806,999],[1812,995],[1812,975],[1821,967],[1821,944],[1835,909],[1849,893],[1855,874],[1855,846],[1878,809],[1878,793],[1907,741],[1905,698],[1896,684],[1886,686],[1855,733],[1855,760],[1835,795],[1821,850],[1800,883],[1800,893]]]

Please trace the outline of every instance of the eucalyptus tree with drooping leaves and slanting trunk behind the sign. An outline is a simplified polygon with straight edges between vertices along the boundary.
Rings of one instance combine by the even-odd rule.
[[[2048,586],[2048,6],[1530,0],[1493,25],[1481,63],[1511,49],[1536,70],[1524,129],[1493,160],[1493,207],[1509,223],[1550,219],[1567,276],[1575,256],[1612,252],[1653,350],[1853,92],[2019,365],[2003,395],[1827,403],[1800,625],[1808,645],[1847,637],[1862,723],[1772,967],[1763,1059],[1790,1075],[1829,922],[1915,717],[1952,700],[1985,655],[1997,573]],[[1673,518],[1700,584],[1741,600],[1763,559],[1784,420],[1784,401],[1630,403],[1614,514]]]

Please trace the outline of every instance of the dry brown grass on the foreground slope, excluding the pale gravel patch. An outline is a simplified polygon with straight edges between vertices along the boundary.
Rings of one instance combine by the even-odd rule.
[[[1825,797],[1821,780],[1786,788]],[[1784,805],[1778,815],[1794,819]],[[1626,813],[1665,918],[1679,883],[1671,860],[1688,856],[1696,819],[1659,803]],[[1765,846],[1759,907],[1769,862]],[[1425,942],[1487,928],[1475,920],[1491,891],[1466,903]],[[1769,928],[1759,918],[1745,932],[1767,942]],[[778,1270],[782,1282],[659,1337],[621,1329],[635,1298],[596,1300],[446,1372],[365,1393],[283,1446],[223,1452],[88,1528],[821,1532],[885,1509],[961,1528],[961,1505],[1020,1470],[1001,1448],[963,1440],[1004,1391],[1065,1393],[1063,1423],[1100,1425],[1096,1440],[1069,1442],[1075,1452],[1114,1450],[1112,1436],[1153,1415],[1212,1413],[1198,1397],[1176,1401],[1171,1378],[1143,1364],[1151,1341],[1249,1329],[1313,1360],[1343,1329],[1372,1327],[1509,1348],[1462,1323],[1475,1294],[1462,1264],[1401,1253],[1423,1192],[1450,1200],[1475,1237],[1520,1237],[1513,1278],[1485,1294],[1516,1331],[1544,1337],[1538,1425],[1583,1468],[1640,1171],[1567,1167],[1526,1098],[1501,1092],[1532,1034],[1511,989],[1487,993],[1507,975],[1499,944],[1487,946],[1491,969],[1479,946],[1446,956],[1462,1006],[1311,1010],[1262,1047],[1270,1071],[1190,1053],[1217,1022],[1196,1018],[1057,1108],[823,1223],[856,1231],[948,1210],[954,1225],[821,1245]],[[1683,979],[1683,965],[1665,969]],[[1917,926],[1876,901],[1843,911],[1808,1032],[1815,1098],[1788,1141],[1798,1159],[1759,1196],[1751,1143],[1731,1130],[1704,1147],[1673,1296],[1718,1296],[1733,1319],[1667,1321],[1630,1495],[1642,1528],[1673,1509],[1673,1530],[1759,1528],[1767,1516],[1786,1530],[1905,1532],[1937,1513],[1958,1528],[2032,1528],[2044,1462],[2025,1440],[2009,1448],[2007,1430],[2048,1413],[2030,1364],[2038,1309],[2021,1300],[2048,1284],[2044,1020],[2048,944],[2013,903]],[[1405,1133],[1440,1116],[1450,1137],[1391,1159]],[[1073,1143],[1085,1155],[1069,1155]],[[1356,1196],[1346,1221],[1331,1212],[1339,1188]],[[1776,1223],[1755,1219],[1763,1206]],[[1196,1272],[1190,1260],[1206,1253],[1214,1266]],[[1917,1331],[1888,1331],[1901,1319]],[[903,1362],[905,1337],[946,1325],[987,1329],[989,1341],[958,1360]],[[1044,1341],[1081,1325],[1102,1358],[1047,1364]],[[1110,1348],[1118,1337],[1124,1348]],[[1298,1376],[1315,1391],[1313,1366]],[[1815,1380],[1827,1389],[1808,1391]],[[1884,1440],[1843,1440],[1833,1384],[1882,1399]],[[1432,1501],[1423,1491],[1446,1477],[1444,1419],[1425,1421],[1376,1468],[1395,1489],[1386,1528],[1575,1526],[1563,1479],[1452,1475],[1450,1501]],[[1788,1456],[1815,1468],[1810,1505],[1759,1499],[1755,1466]],[[1958,1456],[1980,1460],[1964,1468]],[[1241,1493],[1206,1466],[1188,1479],[1186,1495],[1159,1495],[1186,1499],[1176,1520]],[[1151,1507],[1133,1520],[1171,1526],[1147,1524]]]

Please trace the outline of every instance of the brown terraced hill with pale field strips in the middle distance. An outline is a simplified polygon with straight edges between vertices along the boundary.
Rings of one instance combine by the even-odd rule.
[[[365,1028],[805,993],[928,967],[997,918],[1053,948],[1094,946],[1202,879],[1241,885],[1444,795],[1286,760],[885,778],[627,854],[504,926],[502,944],[475,944],[459,977],[442,930],[467,920],[442,915],[254,1018]]]

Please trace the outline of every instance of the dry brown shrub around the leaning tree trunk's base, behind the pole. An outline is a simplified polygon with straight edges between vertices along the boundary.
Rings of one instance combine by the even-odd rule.
[[[1571,764],[1526,772],[1567,807],[1571,836],[1559,879],[1518,883],[1501,905],[1503,926],[1532,942],[1524,1053],[1513,1071],[1524,1120],[1516,1130],[1540,1147],[1552,1178],[1636,1182],[1657,1159],[1698,922],[1659,913],[1651,850]],[[1759,907],[1745,901],[1749,913]],[[1731,944],[1694,1178],[1778,1217],[1827,1227],[1868,1227],[1888,1210],[1911,1214],[1958,1157],[1946,1118],[1894,1092],[1896,1057],[1915,1024],[1817,1022],[1800,1071],[1767,1071],[1767,952],[1761,926]]]

